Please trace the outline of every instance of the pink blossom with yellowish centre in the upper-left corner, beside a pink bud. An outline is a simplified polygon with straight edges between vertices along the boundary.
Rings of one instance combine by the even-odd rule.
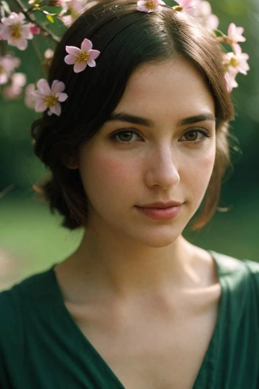
[[[30,24],[24,23],[25,15],[11,12],[7,18],[2,18],[1,36],[3,40],[8,41],[9,45],[15,46],[20,50],[25,50],[28,46],[28,39],[33,38],[30,31]]]

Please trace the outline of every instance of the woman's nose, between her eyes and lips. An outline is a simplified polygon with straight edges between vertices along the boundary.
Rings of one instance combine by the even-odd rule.
[[[146,183],[152,187],[158,185],[163,189],[171,188],[180,181],[176,155],[171,147],[156,150],[149,159],[146,170]]]

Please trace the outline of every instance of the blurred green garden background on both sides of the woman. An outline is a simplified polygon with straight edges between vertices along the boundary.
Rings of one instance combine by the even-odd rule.
[[[15,0],[8,2],[18,12]],[[25,3],[24,3],[25,4]],[[242,49],[250,56],[248,76],[238,75],[239,88],[233,92],[236,118],[232,133],[239,140],[242,155],[233,152],[234,172],[223,185],[217,212],[198,232],[189,228],[185,235],[205,249],[223,252],[240,259],[259,260],[259,2],[258,0],[211,0],[212,12],[219,16],[219,28],[227,33],[230,22],[245,28],[247,41]],[[53,26],[52,26],[53,27]],[[52,28],[53,29],[53,28]],[[62,26],[54,25],[61,34]],[[39,47],[39,50],[37,49]],[[9,49],[21,58],[16,71],[27,74],[27,84],[46,77],[40,65],[47,48],[54,48],[47,38],[34,36],[21,52]],[[0,192],[10,185],[14,189],[0,195],[0,289],[24,277],[48,268],[64,259],[80,241],[82,231],[70,232],[60,226],[61,217],[51,215],[40,203],[32,185],[46,173],[34,157],[30,125],[38,115],[18,100],[0,100]]]

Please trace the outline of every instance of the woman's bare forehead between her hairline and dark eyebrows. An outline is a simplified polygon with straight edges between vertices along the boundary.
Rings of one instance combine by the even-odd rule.
[[[140,116],[195,115],[214,113],[214,100],[202,74],[184,58],[178,57],[141,65],[128,80],[115,113]]]

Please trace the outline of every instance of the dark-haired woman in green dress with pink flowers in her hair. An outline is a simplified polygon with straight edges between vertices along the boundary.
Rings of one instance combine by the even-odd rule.
[[[42,191],[84,235],[0,295],[1,387],[256,389],[259,265],[182,236],[204,196],[195,228],[214,213],[229,160],[214,38],[165,5],[99,4],[37,88]]]

